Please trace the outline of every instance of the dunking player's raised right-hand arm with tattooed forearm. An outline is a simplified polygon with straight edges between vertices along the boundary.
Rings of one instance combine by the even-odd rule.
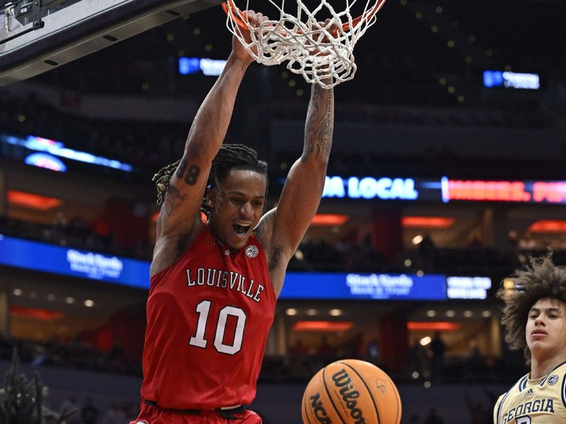
[[[258,235],[266,248],[272,283],[279,295],[285,270],[320,204],[334,129],[334,90],[313,84],[303,155],[289,170],[277,208],[265,214]]]

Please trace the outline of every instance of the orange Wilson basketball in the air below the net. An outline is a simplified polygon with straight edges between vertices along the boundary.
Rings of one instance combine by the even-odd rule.
[[[338,360],[318,371],[303,395],[304,424],[399,424],[397,387],[379,367]]]

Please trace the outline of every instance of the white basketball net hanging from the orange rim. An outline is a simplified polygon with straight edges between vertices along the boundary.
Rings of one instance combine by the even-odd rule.
[[[230,32],[256,61],[268,66],[288,61],[289,71],[323,88],[354,78],[357,69],[354,46],[375,23],[376,13],[385,4],[385,0],[342,0],[345,10],[335,11],[330,0],[320,0],[316,8],[309,11],[303,1],[290,0],[285,11],[285,0],[277,0],[280,6],[275,0],[263,1],[275,6],[279,17],[268,16],[269,20],[258,27],[248,23],[246,13],[236,7],[234,0],[225,1],[222,6],[228,16],[226,26]],[[289,6],[291,3],[296,3],[296,7]],[[352,17],[351,10],[356,4],[358,8],[363,6],[363,12]],[[291,7],[294,15],[289,13]],[[250,0],[246,0],[244,10],[249,9]],[[325,24],[326,18],[330,18],[330,22]],[[337,24],[337,31],[331,33],[333,23]],[[249,31],[250,42],[243,37],[243,31]]]

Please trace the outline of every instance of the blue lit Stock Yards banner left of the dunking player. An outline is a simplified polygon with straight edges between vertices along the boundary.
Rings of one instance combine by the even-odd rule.
[[[0,265],[149,289],[149,262],[0,235]]]

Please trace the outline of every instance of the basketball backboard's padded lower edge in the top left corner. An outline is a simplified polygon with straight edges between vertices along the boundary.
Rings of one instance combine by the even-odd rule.
[[[0,3],[0,86],[38,75],[221,0]]]

